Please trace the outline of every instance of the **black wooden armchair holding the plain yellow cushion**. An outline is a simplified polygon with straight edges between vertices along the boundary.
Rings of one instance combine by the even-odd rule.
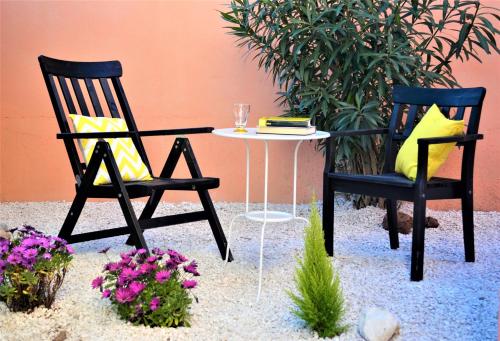
[[[411,256],[411,280],[423,278],[425,207],[427,200],[461,199],[465,261],[474,262],[473,223],[473,171],[476,141],[484,88],[470,89],[425,89],[396,86],[393,91],[394,108],[387,129],[334,131],[327,143],[326,164],[323,175],[323,229],[328,254],[333,255],[333,197],[334,192],[356,193],[386,198],[389,239],[392,249],[399,247],[397,230],[397,200],[411,201],[413,206],[413,239]],[[401,143],[410,135],[418,113],[437,104],[443,114],[452,119],[466,119],[464,136],[434,137],[418,140],[417,178],[411,181],[394,172],[396,155]],[[453,109],[452,109],[453,108]],[[470,115],[465,116],[470,108]],[[451,110],[451,111],[450,111]],[[385,164],[380,175],[357,175],[335,172],[336,138],[370,134],[385,134]],[[427,181],[429,145],[456,142],[463,147],[462,173],[460,179],[433,177]]]

